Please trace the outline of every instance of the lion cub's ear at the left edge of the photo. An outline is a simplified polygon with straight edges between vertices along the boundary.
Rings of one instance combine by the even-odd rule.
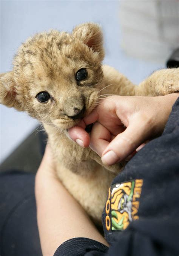
[[[24,111],[17,98],[18,94],[13,71],[0,74],[0,104]]]

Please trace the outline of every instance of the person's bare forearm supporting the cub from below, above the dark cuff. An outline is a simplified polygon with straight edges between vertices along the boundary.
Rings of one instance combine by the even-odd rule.
[[[35,177],[35,198],[44,256],[53,255],[60,244],[74,237],[87,237],[108,245],[57,178],[49,145]]]

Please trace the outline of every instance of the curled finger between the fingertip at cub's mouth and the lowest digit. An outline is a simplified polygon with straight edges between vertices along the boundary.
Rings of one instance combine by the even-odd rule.
[[[101,157],[111,141],[111,133],[102,124],[96,122],[91,130],[90,141],[89,147]]]

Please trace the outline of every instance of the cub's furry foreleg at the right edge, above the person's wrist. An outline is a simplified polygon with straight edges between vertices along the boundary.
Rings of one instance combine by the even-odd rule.
[[[154,72],[136,87],[136,95],[163,96],[179,92],[179,68],[168,68]]]

